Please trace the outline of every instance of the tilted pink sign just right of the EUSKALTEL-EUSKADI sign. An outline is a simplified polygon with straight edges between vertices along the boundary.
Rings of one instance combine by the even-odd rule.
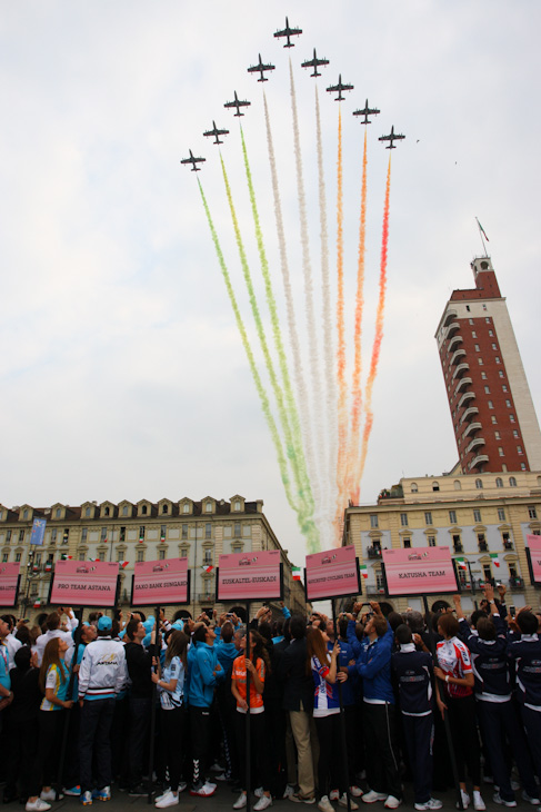
[[[334,547],[307,555],[307,600],[359,595],[355,547]]]

